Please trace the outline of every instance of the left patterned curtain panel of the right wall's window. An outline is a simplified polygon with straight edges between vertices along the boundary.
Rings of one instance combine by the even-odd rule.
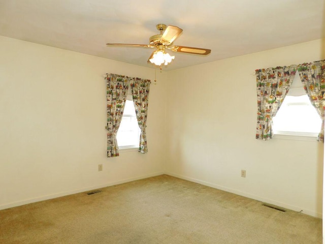
[[[276,115],[293,83],[296,69],[296,65],[291,65],[255,71],[257,82],[256,139],[272,139],[272,118]]]

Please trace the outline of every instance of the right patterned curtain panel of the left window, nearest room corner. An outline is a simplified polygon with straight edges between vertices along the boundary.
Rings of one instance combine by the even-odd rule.
[[[136,109],[138,125],[141,130],[139,152],[145,154],[148,152],[146,124],[150,80],[132,78],[130,85],[132,90],[133,102]]]

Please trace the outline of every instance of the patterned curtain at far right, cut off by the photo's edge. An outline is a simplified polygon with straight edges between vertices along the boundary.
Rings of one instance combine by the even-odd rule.
[[[311,104],[321,118],[318,141],[324,142],[325,60],[298,65],[298,73]]]

